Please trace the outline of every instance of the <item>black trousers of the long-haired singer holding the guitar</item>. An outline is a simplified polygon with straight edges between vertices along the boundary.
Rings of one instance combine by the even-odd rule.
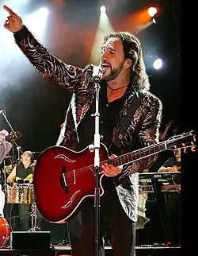
[[[94,216],[93,200],[86,200],[68,223],[72,256],[95,254]],[[100,256],[105,255],[105,235],[112,245],[112,256],[135,256],[135,223],[124,212],[114,186],[110,186],[107,196],[101,197],[100,235]]]

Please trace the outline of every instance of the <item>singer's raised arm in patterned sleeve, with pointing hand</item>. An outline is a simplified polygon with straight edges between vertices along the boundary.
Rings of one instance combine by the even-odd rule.
[[[4,27],[13,32],[15,41],[21,51],[32,63],[40,75],[52,83],[65,87],[68,91],[76,93],[81,86],[78,78],[85,75],[86,70],[65,64],[55,57],[47,48],[44,48],[32,33],[23,25],[21,17],[8,6],[3,6],[10,15]]]

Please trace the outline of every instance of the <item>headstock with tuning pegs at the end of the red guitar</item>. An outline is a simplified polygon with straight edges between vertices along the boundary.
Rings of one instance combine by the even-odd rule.
[[[194,131],[175,135],[166,141],[167,149],[187,149],[191,148],[192,152],[196,149],[196,135]]]

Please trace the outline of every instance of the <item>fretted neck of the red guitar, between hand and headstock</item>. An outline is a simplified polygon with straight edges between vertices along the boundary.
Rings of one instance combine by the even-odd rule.
[[[158,144],[149,145],[143,149],[137,149],[133,152],[125,153],[125,154],[121,155],[120,157],[109,159],[106,162],[109,165],[114,165],[114,166],[128,165],[133,161],[138,161],[145,157],[149,157],[156,153],[160,153],[166,149],[167,149],[166,142],[159,142]]]

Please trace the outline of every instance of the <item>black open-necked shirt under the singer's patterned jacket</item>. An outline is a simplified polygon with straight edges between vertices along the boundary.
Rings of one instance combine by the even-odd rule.
[[[112,144],[112,131],[117,125],[116,120],[124,104],[124,95],[109,103],[107,98],[107,84],[105,81],[101,82],[101,90],[99,92],[99,134],[103,136],[101,143],[105,144],[107,148]],[[93,100],[92,106],[89,107],[89,111],[87,111],[78,126],[80,150],[85,149],[86,146],[94,142],[95,117],[91,116],[91,114],[95,114],[95,111],[96,102]]]

